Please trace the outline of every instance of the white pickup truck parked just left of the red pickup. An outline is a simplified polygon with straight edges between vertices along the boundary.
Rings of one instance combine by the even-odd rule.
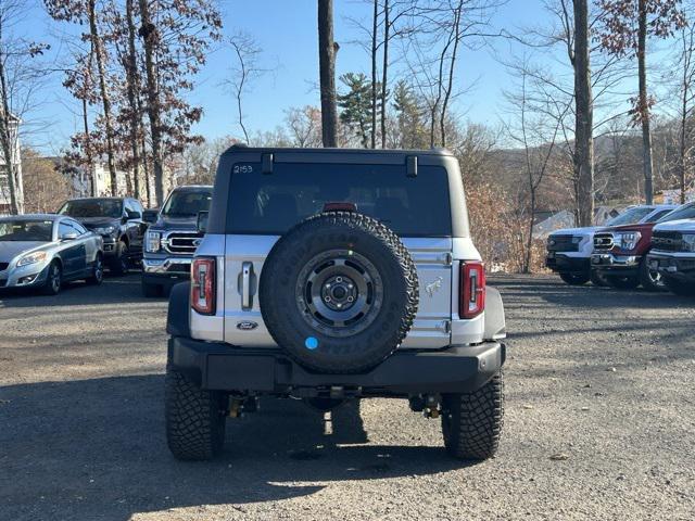
[[[672,204],[631,206],[622,214],[608,220],[605,226],[622,226],[642,223],[655,223],[677,206]],[[571,285],[605,285],[606,281],[591,269],[591,255],[594,252],[594,233],[604,227],[568,228],[557,230],[547,238],[545,266],[560,276]]]

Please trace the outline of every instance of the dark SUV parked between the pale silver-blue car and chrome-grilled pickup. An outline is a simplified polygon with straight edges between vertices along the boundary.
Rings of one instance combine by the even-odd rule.
[[[142,204],[132,198],[84,198],[63,203],[60,215],[70,215],[104,240],[104,262],[115,275],[125,275],[142,258],[147,224]]]

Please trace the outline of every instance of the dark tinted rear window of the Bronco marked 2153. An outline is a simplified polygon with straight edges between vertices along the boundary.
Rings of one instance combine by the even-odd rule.
[[[230,183],[229,233],[282,234],[326,203],[349,202],[399,236],[448,237],[452,217],[446,170],[405,165],[276,163],[270,175],[260,164],[236,164]]]

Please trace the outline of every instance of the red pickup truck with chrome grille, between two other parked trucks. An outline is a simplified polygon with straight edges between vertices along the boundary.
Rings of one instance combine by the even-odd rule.
[[[649,268],[647,254],[652,250],[652,231],[656,223],[674,220],[678,207],[659,219],[646,219],[633,225],[603,228],[594,234],[592,269],[609,285],[633,289],[642,285],[648,291],[664,288],[661,276]]]

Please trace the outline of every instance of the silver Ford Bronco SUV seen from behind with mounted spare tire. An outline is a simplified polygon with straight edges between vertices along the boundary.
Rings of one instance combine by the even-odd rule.
[[[452,456],[495,454],[504,309],[450,152],[232,147],[199,228],[167,319],[174,456],[215,457],[261,396],[407,398]]]

